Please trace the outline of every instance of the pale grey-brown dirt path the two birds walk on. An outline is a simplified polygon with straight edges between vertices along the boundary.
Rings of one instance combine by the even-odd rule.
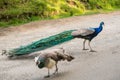
[[[5,29],[0,36],[0,51],[26,45],[64,30],[97,27],[101,21],[105,22],[105,27],[91,43],[97,50],[96,53],[82,51],[82,39],[74,39],[52,47],[64,47],[75,56],[75,60],[71,63],[60,62],[59,73],[49,79],[43,78],[47,69],[40,70],[36,67],[32,57],[34,54],[15,60],[0,56],[0,80],[120,80],[119,11],[32,22],[19,28]]]

